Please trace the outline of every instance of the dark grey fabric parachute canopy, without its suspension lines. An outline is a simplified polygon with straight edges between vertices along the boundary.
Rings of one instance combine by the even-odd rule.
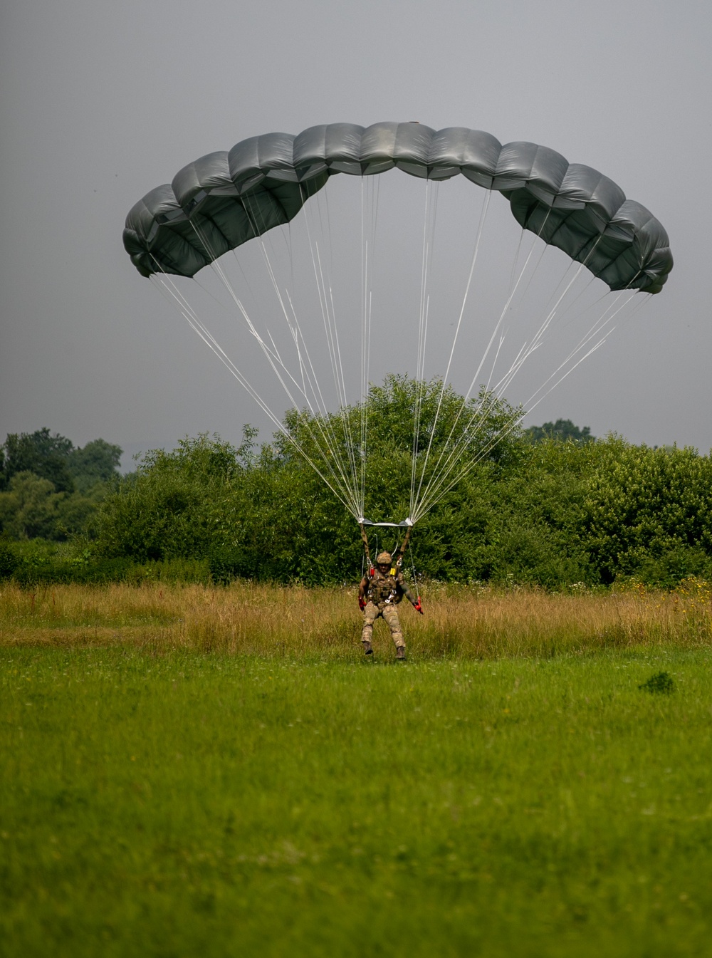
[[[462,173],[510,201],[517,222],[611,289],[659,292],[673,268],[667,233],[602,173],[535,143],[413,123],[330,124],[267,133],[209,153],[156,187],[126,217],[126,252],[143,276],[195,273],[296,216],[334,173],[398,167],[433,180]]]

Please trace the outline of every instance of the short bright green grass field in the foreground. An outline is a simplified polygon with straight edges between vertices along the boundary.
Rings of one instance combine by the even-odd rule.
[[[710,664],[2,649],[0,954],[712,954]]]

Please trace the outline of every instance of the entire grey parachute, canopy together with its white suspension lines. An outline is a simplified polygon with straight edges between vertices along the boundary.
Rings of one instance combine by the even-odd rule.
[[[462,308],[448,324],[455,327],[454,339],[447,368],[439,379],[440,399],[436,403],[435,422],[431,422],[429,427],[430,440],[423,444],[416,437],[413,442],[410,507],[407,519],[403,520],[410,526],[476,465],[478,457],[481,458],[492,449],[496,437],[488,439],[476,454],[472,454],[471,445],[468,444],[481,428],[487,413],[494,408],[493,401],[503,397],[504,390],[524,361],[540,349],[544,333],[552,327],[573,282],[564,285],[561,296],[557,293],[553,308],[547,306],[544,309],[535,330],[515,352],[504,375],[496,378],[493,370],[490,370],[487,376],[481,376],[483,357],[472,364],[476,366],[476,371],[471,379],[470,390],[461,411],[450,425],[448,441],[451,448],[441,448],[437,455],[433,455],[432,436],[448,390],[451,364],[457,355],[456,341],[465,314],[465,302],[480,248],[489,196],[499,193],[509,201],[512,215],[521,227],[522,234],[532,234],[544,248],[561,250],[567,263],[578,263],[576,277],[582,269],[586,269],[611,292],[619,295],[625,293],[624,305],[633,293],[658,293],[667,281],[673,259],[669,239],[662,225],[644,206],[627,199],[623,190],[607,176],[581,164],[570,164],[553,149],[527,142],[502,145],[489,133],[465,127],[435,130],[417,123],[379,123],[368,127],[332,124],[312,126],[296,136],[269,133],[244,140],[229,151],[209,153],[195,160],[178,171],[171,184],[159,186],[144,196],[126,217],[124,245],[131,262],[141,275],[158,280],[195,331],[267,412],[287,440],[299,448],[300,453],[359,522],[364,521],[364,463],[371,389],[369,354],[372,349],[373,304],[369,271],[372,271],[378,206],[377,194],[373,188],[370,194],[364,191],[364,184],[379,179],[377,174],[394,169],[425,180],[427,189],[430,185],[437,189],[441,181],[461,177],[487,191],[479,219],[471,217],[479,225],[469,278],[464,284],[466,291]],[[323,320],[322,338],[328,346],[329,365],[335,383],[335,400],[330,408],[311,360],[308,328],[310,324],[313,325],[312,318],[309,315],[297,316],[289,283],[284,276],[282,279],[277,276],[274,246],[270,253],[264,240],[269,241],[270,236],[282,228],[289,245],[291,221],[307,213],[315,202],[313,197],[319,199],[329,181],[339,173],[359,177],[362,184],[361,256],[360,263],[355,265],[356,272],[361,274],[361,345],[360,354],[356,347],[355,356],[356,363],[360,365],[360,382],[355,404],[350,404],[347,396],[347,376],[343,369],[344,365],[348,367],[350,360],[342,354],[342,340],[337,329],[338,310],[334,306],[333,288],[326,276],[328,267],[322,256],[327,241],[324,238],[330,234],[331,225],[325,228],[321,221],[321,248],[313,236],[316,226],[311,231],[309,222],[306,226],[318,288],[318,308],[311,311],[320,313]],[[319,210],[323,220],[321,207]],[[328,209],[325,216],[329,217]],[[422,386],[416,388],[413,403],[416,434],[421,428],[425,393],[424,357],[429,314],[426,274],[432,256],[435,217],[436,200],[432,194],[426,193],[416,362],[416,381]],[[236,291],[233,281],[227,278],[222,265],[225,254],[231,250],[238,251],[241,247],[248,248],[255,242],[261,244],[266,269],[276,293],[275,311],[282,315],[287,325],[288,338],[295,354],[293,366],[289,366],[284,350],[277,345],[272,332],[258,330],[252,315],[244,307],[243,296]],[[517,246],[517,270],[518,256]],[[531,258],[532,253],[517,276],[513,266],[512,282],[505,293],[504,308],[494,317],[494,330],[483,348],[483,356],[496,358],[501,352],[505,326],[515,298],[532,282],[531,276],[524,282],[525,270],[531,268]],[[241,322],[257,342],[292,406],[296,410],[309,410],[308,443],[300,440],[299,430],[290,428],[275,416],[254,383],[247,379],[244,369],[239,369],[221,349],[185,294],[172,280],[172,277],[195,277],[208,266],[228,289],[230,298],[238,308]],[[289,268],[293,271],[291,250]],[[242,273],[249,285],[249,276],[244,270]],[[563,361],[559,363],[557,360],[559,364],[555,363],[553,373],[543,377],[540,398],[605,341],[612,328],[611,319],[619,308],[615,305],[607,307]],[[318,323],[316,327],[321,329]],[[486,382],[478,382],[479,377],[486,379]],[[471,399],[478,387],[479,392]],[[522,415],[522,410],[518,410],[517,415],[511,417],[511,422],[502,426],[499,435],[511,431]],[[464,458],[463,451],[466,453]]]

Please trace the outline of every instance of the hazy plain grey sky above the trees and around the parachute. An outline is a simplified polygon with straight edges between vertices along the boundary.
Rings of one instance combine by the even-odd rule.
[[[126,213],[195,158],[250,136],[417,120],[557,149],[606,173],[670,236],[666,287],[526,422],[712,447],[708,3],[6,0],[0,16],[0,438],[45,426],[76,445],[101,437],[130,468],[133,454],[186,435],[239,442],[243,423],[264,427],[129,262]],[[439,242],[459,263],[444,285],[459,288],[471,237],[458,229]],[[398,228],[384,236],[391,248]],[[394,289],[405,273],[393,267]],[[398,316],[398,343],[411,312]],[[380,348],[380,373],[399,351]],[[476,367],[466,352],[458,387]],[[281,414],[287,402],[264,388]]]

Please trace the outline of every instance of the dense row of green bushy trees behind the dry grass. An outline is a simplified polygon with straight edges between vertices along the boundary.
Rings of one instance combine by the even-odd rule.
[[[424,404],[418,454],[426,443],[444,442],[453,422],[448,413],[442,432],[433,433],[428,402],[437,391],[436,384]],[[375,520],[407,514],[412,398],[413,384],[396,378],[374,396],[367,514]],[[454,409],[460,398],[448,398]],[[499,430],[503,438],[483,445],[476,467],[419,521],[408,567],[447,582],[546,588],[621,580],[672,586],[689,576],[712,577],[709,455],[616,436],[594,440],[567,421],[538,427],[543,436],[502,429],[515,413],[505,403],[488,407],[481,436]],[[287,424],[308,441],[310,417],[293,414]],[[330,424],[336,433],[338,423]],[[557,425],[574,433],[558,438]],[[307,584],[354,582],[360,575],[355,520],[284,438],[258,446],[246,428],[238,447],[217,436],[186,439],[172,452],[149,453],[136,472],[114,483],[93,515],[93,538],[76,537],[61,570],[55,562],[55,575]],[[395,544],[391,531],[376,535],[374,549]],[[6,539],[4,548],[0,572],[25,581],[51,577],[49,560],[44,571],[35,562],[33,571],[13,543]]]

